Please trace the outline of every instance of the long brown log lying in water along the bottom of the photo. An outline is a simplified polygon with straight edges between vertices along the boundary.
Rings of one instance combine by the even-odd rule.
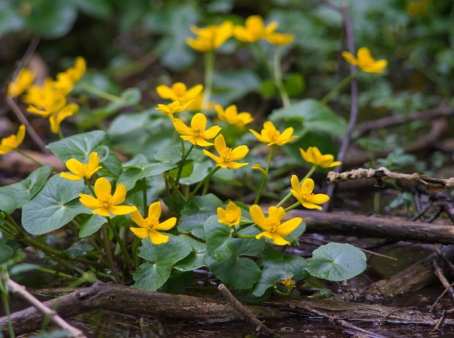
[[[171,295],[147,292],[117,284],[95,283],[62,297],[44,303],[62,317],[71,317],[92,310],[109,310],[135,317],[152,317],[179,321],[243,320],[233,306],[219,298]],[[273,297],[261,303],[245,305],[249,312],[261,320],[289,317],[295,313],[311,315],[323,313],[326,317],[365,322],[394,322],[435,325],[436,318],[418,310],[391,308],[377,304],[349,303],[338,299],[309,299],[306,297]],[[43,315],[35,308],[27,308],[11,315],[16,334],[39,329]],[[4,333],[8,317],[0,318]],[[447,319],[446,325],[454,325]]]

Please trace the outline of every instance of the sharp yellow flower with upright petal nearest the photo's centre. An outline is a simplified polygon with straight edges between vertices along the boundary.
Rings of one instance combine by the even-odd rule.
[[[224,140],[222,134],[218,135],[218,137],[214,139],[214,148],[216,149],[216,152],[218,152],[219,156],[211,154],[211,152],[208,152],[206,150],[203,151],[204,154],[211,157],[211,159],[214,159],[214,161],[216,162],[216,167],[238,169],[249,164],[233,162],[238,161],[239,159],[243,159],[246,154],[248,154],[248,146],[240,145],[239,147],[236,147],[232,150],[232,148],[228,148],[226,146],[226,140]]]

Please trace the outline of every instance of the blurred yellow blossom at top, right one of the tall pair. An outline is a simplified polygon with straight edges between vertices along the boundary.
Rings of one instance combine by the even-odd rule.
[[[273,45],[286,45],[294,39],[293,35],[275,33],[277,22],[272,21],[265,27],[261,16],[249,16],[245,20],[245,26],[235,26],[233,34],[235,38],[246,43],[255,43],[257,40],[268,40]]]

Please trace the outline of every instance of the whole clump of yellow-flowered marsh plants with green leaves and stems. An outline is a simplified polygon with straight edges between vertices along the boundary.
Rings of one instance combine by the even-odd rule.
[[[285,218],[288,210],[300,205],[321,210],[329,199],[314,192],[311,175],[316,169],[341,163],[333,154],[323,154],[316,144],[301,147],[299,139],[314,131],[326,138],[345,133],[345,120],[326,103],[355,75],[334,86],[320,101],[292,101],[280,57],[282,47],[292,43],[294,36],[277,33],[275,21],[265,25],[260,16],[250,16],[244,25],[224,21],[191,30],[195,36],[188,37],[187,44],[204,55],[204,84],[157,86],[157,95],[168,103],[142,113],[122,114],[107,133],[91,130],[65,137],[61,123],[79,110],[68,96],[79,86],[110,100],[107,113],[99,115],[106,118],[111,111],[138,104],[140,97],[134,89],[118,97],[85,84],[82,57],[43,84],[33,83],[31,69],[18,72],[9,84],[9,97],[20,98],[28,112],[49,119],[50,130],[60,140],[47,148],[65,162],[69,172],[57,174],[33,159],[39,169],[18,184],[0,188],[3,261],[20,248],[13,243],[22,242],[60,263],[65,261],[72,271],[81,271],[79,264],[84,264],[94,278],[132,283],[132,276],[135,288],[155,291],[162,287],[170,292],[182,291],[194,271],[204,269],[249,300],[267,298],[273,290],[289,294],[294,283],[308,276],[343,281],[364,271],[365,254],[350,244],[323,245],[309,259],[276,249],[298,244],[305,230],[304,219]],[[254,114],[238,113],[235,104],[211,101],[216,51],[228,39],[251,45],[264,55],[282,101],[283,107],[259,131],[250,128]],[[267,56],[270,51],[272,64]],[[387,67],[386,60],[375,60],[365,47],[357,56],[344,52],[343,57],[361,72],[382,73]],[[21,125],[17,135],[1,140],[1,153],[28,156],[19,149],[25,134],[26,127]],[[143,137],[154,138],[155,147],[140,149]],[[125,152],[134,147],[129,151],[133,157],[121,162],[112,141]],[[267,194],[272,180],[282,175],[274,172],[282,169],[279,163],[287,158],[309,164],[309,170],[302,178],[289,175],[282,196]],[[249,189],[254,201],[248,206],[236,196],[220,198],[209,193],[210,182]],[[277,201],[269,203],[267,213],[259,204],[265,195],[267,201]],[[18,209],[21,225],[11,215]],[[35,237],[62,227],[80,238],[65,252]]]

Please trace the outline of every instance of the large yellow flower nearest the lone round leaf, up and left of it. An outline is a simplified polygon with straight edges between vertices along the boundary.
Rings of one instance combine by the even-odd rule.
[[[287,245],[290,244],[289,241],[284,240],[282,236],[290,235],[293,230],[295,230],[298,225],[301,223],[302,218],[292,218],[292,220],[287,220],[281,224],[282,218],[285,217],[284,208],[271,206],[268,208],[268,217],[265,218],[263,215],[262,209],[257,204],[252,205],[249,208],[250,217],[253,219],[255,224],[261,227],[264,232],[256,235],[255,238],[260,240],[262,237],[267,237],[272,240],[277,245]]]

